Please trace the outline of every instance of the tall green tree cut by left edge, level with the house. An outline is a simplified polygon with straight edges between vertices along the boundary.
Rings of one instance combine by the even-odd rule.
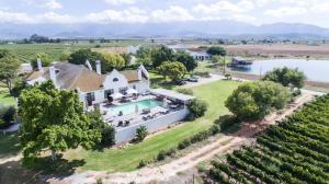
[[[0,81],[7,85],[10,93],[19,69],[20,60],[18,57],[8,50],[0,50]]]

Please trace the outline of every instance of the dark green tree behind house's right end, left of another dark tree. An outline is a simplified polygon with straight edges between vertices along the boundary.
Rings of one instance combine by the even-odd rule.
[[[174,57],[173,50],[162,45],[160,48],[152,50],[151,54],[152,66],[154,68],[157,68],[164,61],[173,60],[173,57]]]

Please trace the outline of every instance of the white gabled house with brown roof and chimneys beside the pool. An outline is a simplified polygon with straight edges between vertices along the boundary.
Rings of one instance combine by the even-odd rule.
[[[97,61],[97,71],[93,71],[89,61],[84,65],[73,65],[69,62],[56,62],[50,67],[43,67],[37,60],[38,69],[31,72],[27,84],[42,83],[53,80],[56,88],[64,90],[75,90],[78,92],[80,101],[84,106],[102,103],[114,93],[125,94],[128,89],[134,89],[138,93],[149,90],[149,73],[141,65],[136,70],[101,73],[101,62]]]

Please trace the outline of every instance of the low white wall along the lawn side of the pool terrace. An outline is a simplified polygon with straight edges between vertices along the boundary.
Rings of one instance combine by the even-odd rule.
[[[167,115],[156,117],[154,119],[145,120],[122,129],[117,129],[115,133],[115,142],[121,143],[132,140],[136,135],[136,129],[140,126],[145,126],[148,129],[148,133],[154,133],[167,127],[170,124],[184,119],[186,115],[189,115],[189,110],[183,108]]]

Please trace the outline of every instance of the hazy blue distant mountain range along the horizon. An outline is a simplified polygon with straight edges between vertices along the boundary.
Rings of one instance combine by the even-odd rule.
[[[274,23],[256,26],[231,20],[188,21],[171,23],[0,24],[1,39],[26,38],[34,33],[59,38],[329,38],[329,28],[310,24]]]

